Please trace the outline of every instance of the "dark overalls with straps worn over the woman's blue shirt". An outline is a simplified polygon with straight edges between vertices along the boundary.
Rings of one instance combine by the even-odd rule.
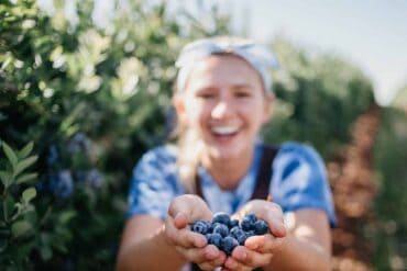
[[[278,147],[263,145],[262,161],[261,161],[260,169],[257,172],[256,185],[254,188],[251,200],[254,200],[254,199],[266,200],[267,199],[268,192],[270,192],[270,184],[272,182],[272,176],[273,176],[273,160],[275,156],[277,155],[277,153],[278,153]],[[195,191],[197,195],[199,195],[201,199],[205,200],[202,188],[200,184],[200,178],[198,174],[195,176]],[[196,263],[191,264],[191,270],[200,271],[198,264]],[[262,269],[257,268],[255,270],[261,271]]]

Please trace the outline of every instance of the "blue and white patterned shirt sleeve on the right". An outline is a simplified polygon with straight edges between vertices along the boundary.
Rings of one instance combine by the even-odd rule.
[[[318,208],[326,212],[331,226],[337,224],[323,161],[309,146],[287,143],[280,147],[273,162],[271,192],[284,212]]]

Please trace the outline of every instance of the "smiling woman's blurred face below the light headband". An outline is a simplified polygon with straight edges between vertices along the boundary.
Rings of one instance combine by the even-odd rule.
[[[211,158],[232,159],[251,154],[261,126],[270,116],[257,72],[233,55],[213,55],[191,70],[176,100],[180,120],[202,139]]]

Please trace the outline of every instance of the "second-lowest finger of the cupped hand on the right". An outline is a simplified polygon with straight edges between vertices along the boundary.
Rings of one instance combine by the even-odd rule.
[[[235,259],[239,263],[252,268],[264,267],[268,264],[272,256],[272,253],[260,253],[243,246],[237,247],[232,253],[233,259]]]

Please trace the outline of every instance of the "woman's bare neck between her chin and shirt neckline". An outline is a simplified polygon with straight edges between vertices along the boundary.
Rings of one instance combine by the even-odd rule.
[[[248,154],[233,159],[217,159],[202,156],[202,166],[223,190],[234,190],[252,166],[254,147]]]

